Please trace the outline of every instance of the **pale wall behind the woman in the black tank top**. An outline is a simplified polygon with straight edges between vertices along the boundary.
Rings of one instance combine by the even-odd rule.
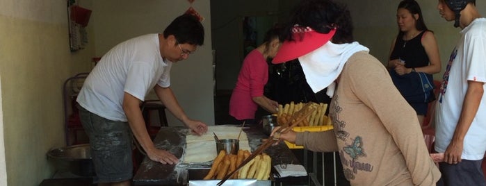
[[[454,22],[446,22],[437,10],[438,1],[416,0],[421,6],[423,19],[428,28],[435,33],[439,45],[439,55],[442,61],[442,71],[434,78],[442,80],[449,55],[459,37],[460,28],[453,26]],[[382,63],[388,61],[389,49],[394,37],[398,34],[396,24],[396,8],[400,1],[376,0],[354,1],[341,0],[348,4],[355,26],[355,40],[370,48],[370,53]],[[486,2],[477,1],[480,14],[486,16]]]

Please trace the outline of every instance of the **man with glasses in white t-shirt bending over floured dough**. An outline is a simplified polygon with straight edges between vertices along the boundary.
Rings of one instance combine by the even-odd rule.
[[[172,62],[185,60],[204,42],[204,28],[193,15],[181,15],[163,31],[134,37],[113,47],[83,84],[77,102],[88,134],[99,185],[130,185],[133,164],[131,136],[150,160],[174,164],[169,151],[157,149],[147,133],[140,102],[147,92],[198,135],[207,126],[190,119],[170,89]]]

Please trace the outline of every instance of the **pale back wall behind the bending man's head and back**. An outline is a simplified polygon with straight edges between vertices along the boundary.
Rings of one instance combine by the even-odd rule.
[[[162,33],[165,26],[183,14],[188,1],[93,1],[96,55],[102,56],[116,44],[147,33]],[[211,55],[211,14],[209,1],[194,1],[193,8],[204,17],[204,45],[196,53],[172,65],[171,87],[186,114],[214,124],[213,74]],[[154,97],[153,95],[150,95]],[[169,112],[168,112],[169,113]],[[170,126],[181,122],[168,114]]]

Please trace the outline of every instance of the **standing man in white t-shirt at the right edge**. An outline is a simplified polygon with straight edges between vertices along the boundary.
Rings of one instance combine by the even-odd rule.
[[[447,21],[460,27],[436,105],[435,151],[444,185],[486,185],[481,163],[486,151],[486,19],[476,1],[439,0]],[[439,181],[441,183],[441,181]]]

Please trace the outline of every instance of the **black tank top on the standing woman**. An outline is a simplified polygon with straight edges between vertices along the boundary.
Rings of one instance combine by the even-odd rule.
[[[391,52],[389,60],[400,58],[405,61],[405,67],[417,68],[425,67],[429,64],[426,49],[422,46],[422,36],[426,31],[422,31],[411,40],[403,40],[403,34],[396,37],[394,50]]]

